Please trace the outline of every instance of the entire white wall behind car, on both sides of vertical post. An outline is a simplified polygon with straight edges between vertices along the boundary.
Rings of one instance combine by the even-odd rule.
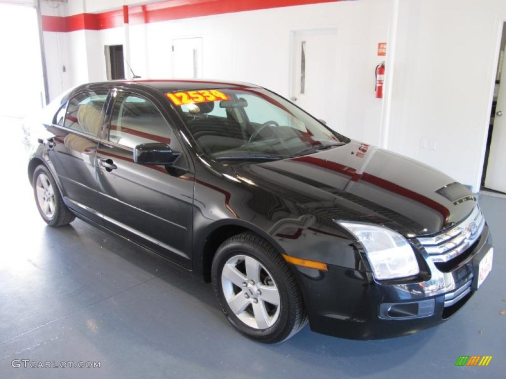
[[[135,1],[69,0],[63,9],[66,15],[103,12],[123,3]],[[290,31],[335,27],[340,85],[338,123],[332,127],[379,145],[382,101],[374,98],[373,70],[383,58],[376,56],[376,47],[388,40],[394,4],[356,0],[131,25],[130,63],[143,78],[170,78],[171,40],[202,36],[204,77],[257,83],[289,96]],[[501,17],[506,19],[503,0],[400,0],[390,118],[384,120],[389,125],[387,148],[437,167],[475,191]],[[67,67],[61,89],[105,80],[104,45],[124,43],[122,27],[45,32],[47,49],[57,50],[57,34],[66,46],[60,54]],[[48,70],[54,97],[59,67],[51,61]],[[422,148],[421,140],[428,147],[435,144],[435,150]]]

